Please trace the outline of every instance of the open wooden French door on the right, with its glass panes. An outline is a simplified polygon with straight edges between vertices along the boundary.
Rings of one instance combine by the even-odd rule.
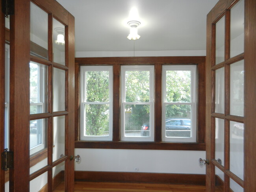
[[[256,191],[255,7],[255,0],[220,0],[207,16],[209,192]]]

